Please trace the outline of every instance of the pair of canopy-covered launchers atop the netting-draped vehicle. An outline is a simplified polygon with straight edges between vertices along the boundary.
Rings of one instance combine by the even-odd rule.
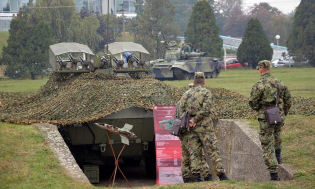
[[[54,72],[71,74],[101,72],[105,74],[148,71],[150,53],[140,44],[108,44],[105,56],[97,57],[86,45],[58,43],[49,46],[49,62]],[[146,64],[147,62],[147,64]]]

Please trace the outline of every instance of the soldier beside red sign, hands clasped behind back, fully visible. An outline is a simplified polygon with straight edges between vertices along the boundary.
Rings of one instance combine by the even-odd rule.
[[[217,148],[217,137],[214,132],[211,115],[211,92],[204,88],[204,73],[196,72],[193,84],[187,90],[181,100],[179,106],[180,115],[189,112],[191,119],[189,120],[188,147],[190,154],[190,168],[194,175],[194,181],[201,181],[201,157],[202,148],[209,158],[215,163],[217,175],[220,180],[229,179],[225,174],[225,169],[221,163],[221,156]],[[211,173],[207,175],[208,180],[213,180]]]

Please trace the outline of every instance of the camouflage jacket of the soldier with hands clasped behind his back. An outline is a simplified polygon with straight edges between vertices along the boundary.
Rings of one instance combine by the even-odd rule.
[[[196,126],[195,132],[214,131],[211,115],[211,92],[201,85],[192,85],[180,100],[180,115],[189,112]]]

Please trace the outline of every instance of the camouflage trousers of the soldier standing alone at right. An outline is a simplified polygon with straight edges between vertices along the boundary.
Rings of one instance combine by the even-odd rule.
[[[281,127],[284,122],[275,126],[269,126],[265,119],[259,121],[259,140],[263,149],[263,158],[267,169],[271,173],[278,172],[278,162],[275,155],[275,149],[281,149]]]

